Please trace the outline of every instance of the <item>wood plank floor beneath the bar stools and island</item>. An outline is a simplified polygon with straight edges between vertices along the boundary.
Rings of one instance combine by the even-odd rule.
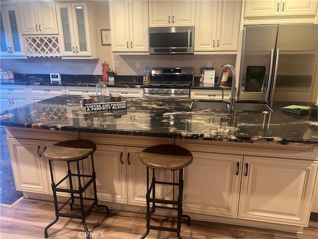
[[[0,239],[43,239],[44,228],[55,219],[54,205],[32,199],[24,199],[14,208],[0,208]],[[164,226],[174,219],[155,217],[153,225]],[[92,239],[140,239],[145,233],[144,214],[93,209],[86,224]],[[85,239],[81,221],[60,218],[49,230],[49,239]],[[318,229],[306,228],[304,234],[285,233],[257,228],[219,223],[191,221],[182,224],[182,239],[318,239]],[[146,239],[176,239],[176,233],[150,231]]]

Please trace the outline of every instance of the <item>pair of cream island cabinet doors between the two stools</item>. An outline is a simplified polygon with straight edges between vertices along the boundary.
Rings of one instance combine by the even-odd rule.
[[[145,147],[97,144],[93,154],[96,188],[99,200],[130,205],[146,205],[147,172],[140,161]],[[91,164],[84,162],[91,170]],[[159,180],[166,178],[164,171],[156,171]],[[151,175],[150,175],[151,180]],[[156,197],[165,199],[167,187],[159,187]],[[93,196],[92,191],[90,197]]]

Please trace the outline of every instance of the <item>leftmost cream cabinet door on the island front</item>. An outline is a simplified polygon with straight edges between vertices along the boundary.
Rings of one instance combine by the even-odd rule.
[[[49,193],[42,140],[8,138],[15,187],[26,192]]]

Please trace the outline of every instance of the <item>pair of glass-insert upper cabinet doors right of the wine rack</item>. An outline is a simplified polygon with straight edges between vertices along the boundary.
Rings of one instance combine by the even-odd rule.
[[[63,33],[63,55],[89,55],[86,4],[61,3],[57,8]]]

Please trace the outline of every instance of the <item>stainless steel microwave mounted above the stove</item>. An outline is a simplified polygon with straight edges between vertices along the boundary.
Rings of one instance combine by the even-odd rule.
[[[149,54],[193,54],[194,26],[149,27]]]

